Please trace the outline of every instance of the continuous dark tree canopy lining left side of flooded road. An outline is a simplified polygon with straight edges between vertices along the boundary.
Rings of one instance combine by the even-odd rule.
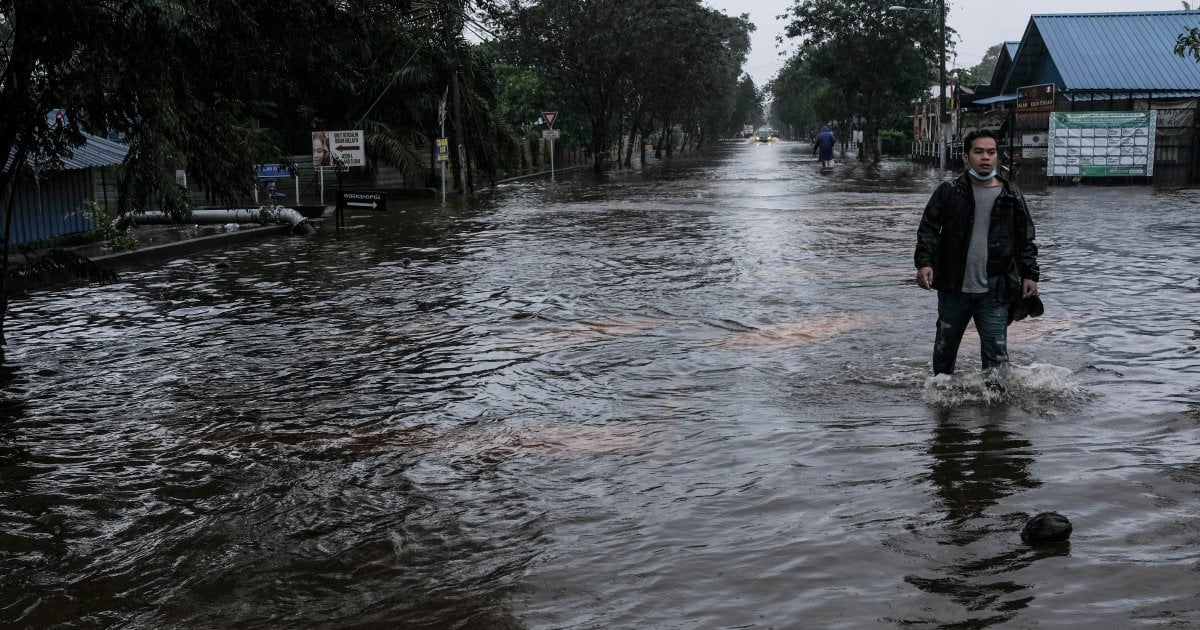
[[[322,128],[365,128],[373,164],[421,176],[448,88],[452,158],[485,172],[512,160],[530,100],[569,110],[596,156],[652,120],[698,143],[754,118],[752,29],[700,0],[0,0],[0,192],[84,133],[130,145],[121,211],[185,212],[176,168],[233,203]]]

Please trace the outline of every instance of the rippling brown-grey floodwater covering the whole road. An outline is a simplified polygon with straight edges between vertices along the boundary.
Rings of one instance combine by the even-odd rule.
[[[1030,191],[996,397],[928,374],[937,178],[728,144],[23,296],[0,625],[1196,626],[1194,191]]]

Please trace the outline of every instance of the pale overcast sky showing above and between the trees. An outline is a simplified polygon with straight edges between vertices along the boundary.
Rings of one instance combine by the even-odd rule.
[[[1190,0],[1200,6],[1200,0]],[[752,35],[750,59],[745,71],[762,86],[775,76],[786,56],[779,56],[775,37],[782,35],[785,22],[775,19],[794,4],[792,0],[704,0],[730,16],[750,13],[756,30]],[[935,0],[929,0],[935,6]],[[1025,34],[1030,16],[1043,13],[1105,13],[1126,11],[1180,11],[1180,0],[946,0],[948,25],[958,31],[956,55],[947,60],[947,68],[971,67],[983,59],[988,48],[1018,41]],[[1200,12],[1196,13],[1200,26]],[[794,43],[785,41],[791,53]]]

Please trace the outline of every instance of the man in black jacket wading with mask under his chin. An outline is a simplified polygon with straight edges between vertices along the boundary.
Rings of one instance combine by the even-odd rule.
[[[1038,294],[1038,246],[1025,197],[996,174],[996,137],[967,134],[967,172],[934,191],[917,230],[917,284],[937,289],[934,373],[953,374],[967,323],[979,332],[988,389],[1004,391],[1008,311]]]

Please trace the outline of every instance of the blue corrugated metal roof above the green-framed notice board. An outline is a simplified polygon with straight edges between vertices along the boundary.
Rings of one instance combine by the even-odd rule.
[[[1196,26],[1195,11],[1032,16],[1003,91],[1055,83],[1064,92],[1200,95],[1200,64],[1175,54],[1176,37]]]

